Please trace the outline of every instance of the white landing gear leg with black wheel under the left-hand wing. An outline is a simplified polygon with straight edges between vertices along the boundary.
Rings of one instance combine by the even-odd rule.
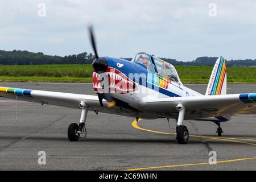
[[[68,127],[68,139],[70,141],[79,140],[79,138],[81,138],[80,135],[84,131],[85,131],[85,137],[86,137],[85,121],[86,121],[88,109],[85,106],[84,102],[81,102],[79,106],[82,109],[79,125],[77,125],[77,123],[71,123]],[[83,137],[83,138],[85,138],[85,137]]]

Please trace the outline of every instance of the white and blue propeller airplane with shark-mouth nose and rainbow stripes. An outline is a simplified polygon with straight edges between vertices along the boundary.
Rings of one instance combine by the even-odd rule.
[[[125,115],[137,121],[139,118],[174,119],[179,144],[189,140],[188,129],[183,125],[188,119],[216,123],[216,133],[221,136],[221,122],[229,121],[232,115],[256,114],[256,93],[226,94],[224,57],[218,57],[203,95],[184,86],[175,67],[154,55],[139,52],[131,61],[99,57],[93,27],[88,28],[96,57],[92,63],[96,95],[1,86],[0,97],[81,109],[79,125],[71,123],[68,127],[68,139],[72,142],[86,137],[88,111]]]

